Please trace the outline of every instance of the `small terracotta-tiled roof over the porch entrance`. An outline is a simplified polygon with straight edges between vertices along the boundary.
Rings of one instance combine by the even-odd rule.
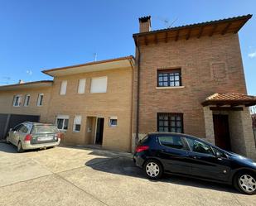
[[[253,106],[256,104],[256,97],[244,93],[214,93],[205,98],[205,101],[202,103],[203,106],[210,104]]]

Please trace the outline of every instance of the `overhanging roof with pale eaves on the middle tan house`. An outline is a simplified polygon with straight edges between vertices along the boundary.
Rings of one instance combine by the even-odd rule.
[[[109,60],[92,61],[80,65],[70,65],[54,69],[45,69],[42,72],[51,76],[61,76],[68,74],[80,74],[87,72],[95,72],[106,69],[127,68],[134,65],[133,55],[119,57]]]

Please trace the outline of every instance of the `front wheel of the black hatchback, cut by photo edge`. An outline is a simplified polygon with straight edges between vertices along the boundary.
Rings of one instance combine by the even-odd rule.
[[[241,171],[234,175],[233,185],[243,194],[256,194],[256,174],[250,171]]]

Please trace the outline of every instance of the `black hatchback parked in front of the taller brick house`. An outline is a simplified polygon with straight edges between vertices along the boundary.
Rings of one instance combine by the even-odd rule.
[[[189,135],[149,133],[139,141],[133,160],[152,180],[161,178],[165,172],[233,184],[244,194],[256,193],[253,160]]]

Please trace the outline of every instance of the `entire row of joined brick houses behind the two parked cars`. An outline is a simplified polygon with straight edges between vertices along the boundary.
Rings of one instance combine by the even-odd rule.
[[[251,17],[157,31],[141,17],[135,60],[45,69],[53,81],[1,86],[0,122],[37,118],[56,124],[65,144],[121,151],[147,132],[184,132],[256,159],[256,97],[246,91],[238,36]],[[0,137],[10,127],[1,125]]]

